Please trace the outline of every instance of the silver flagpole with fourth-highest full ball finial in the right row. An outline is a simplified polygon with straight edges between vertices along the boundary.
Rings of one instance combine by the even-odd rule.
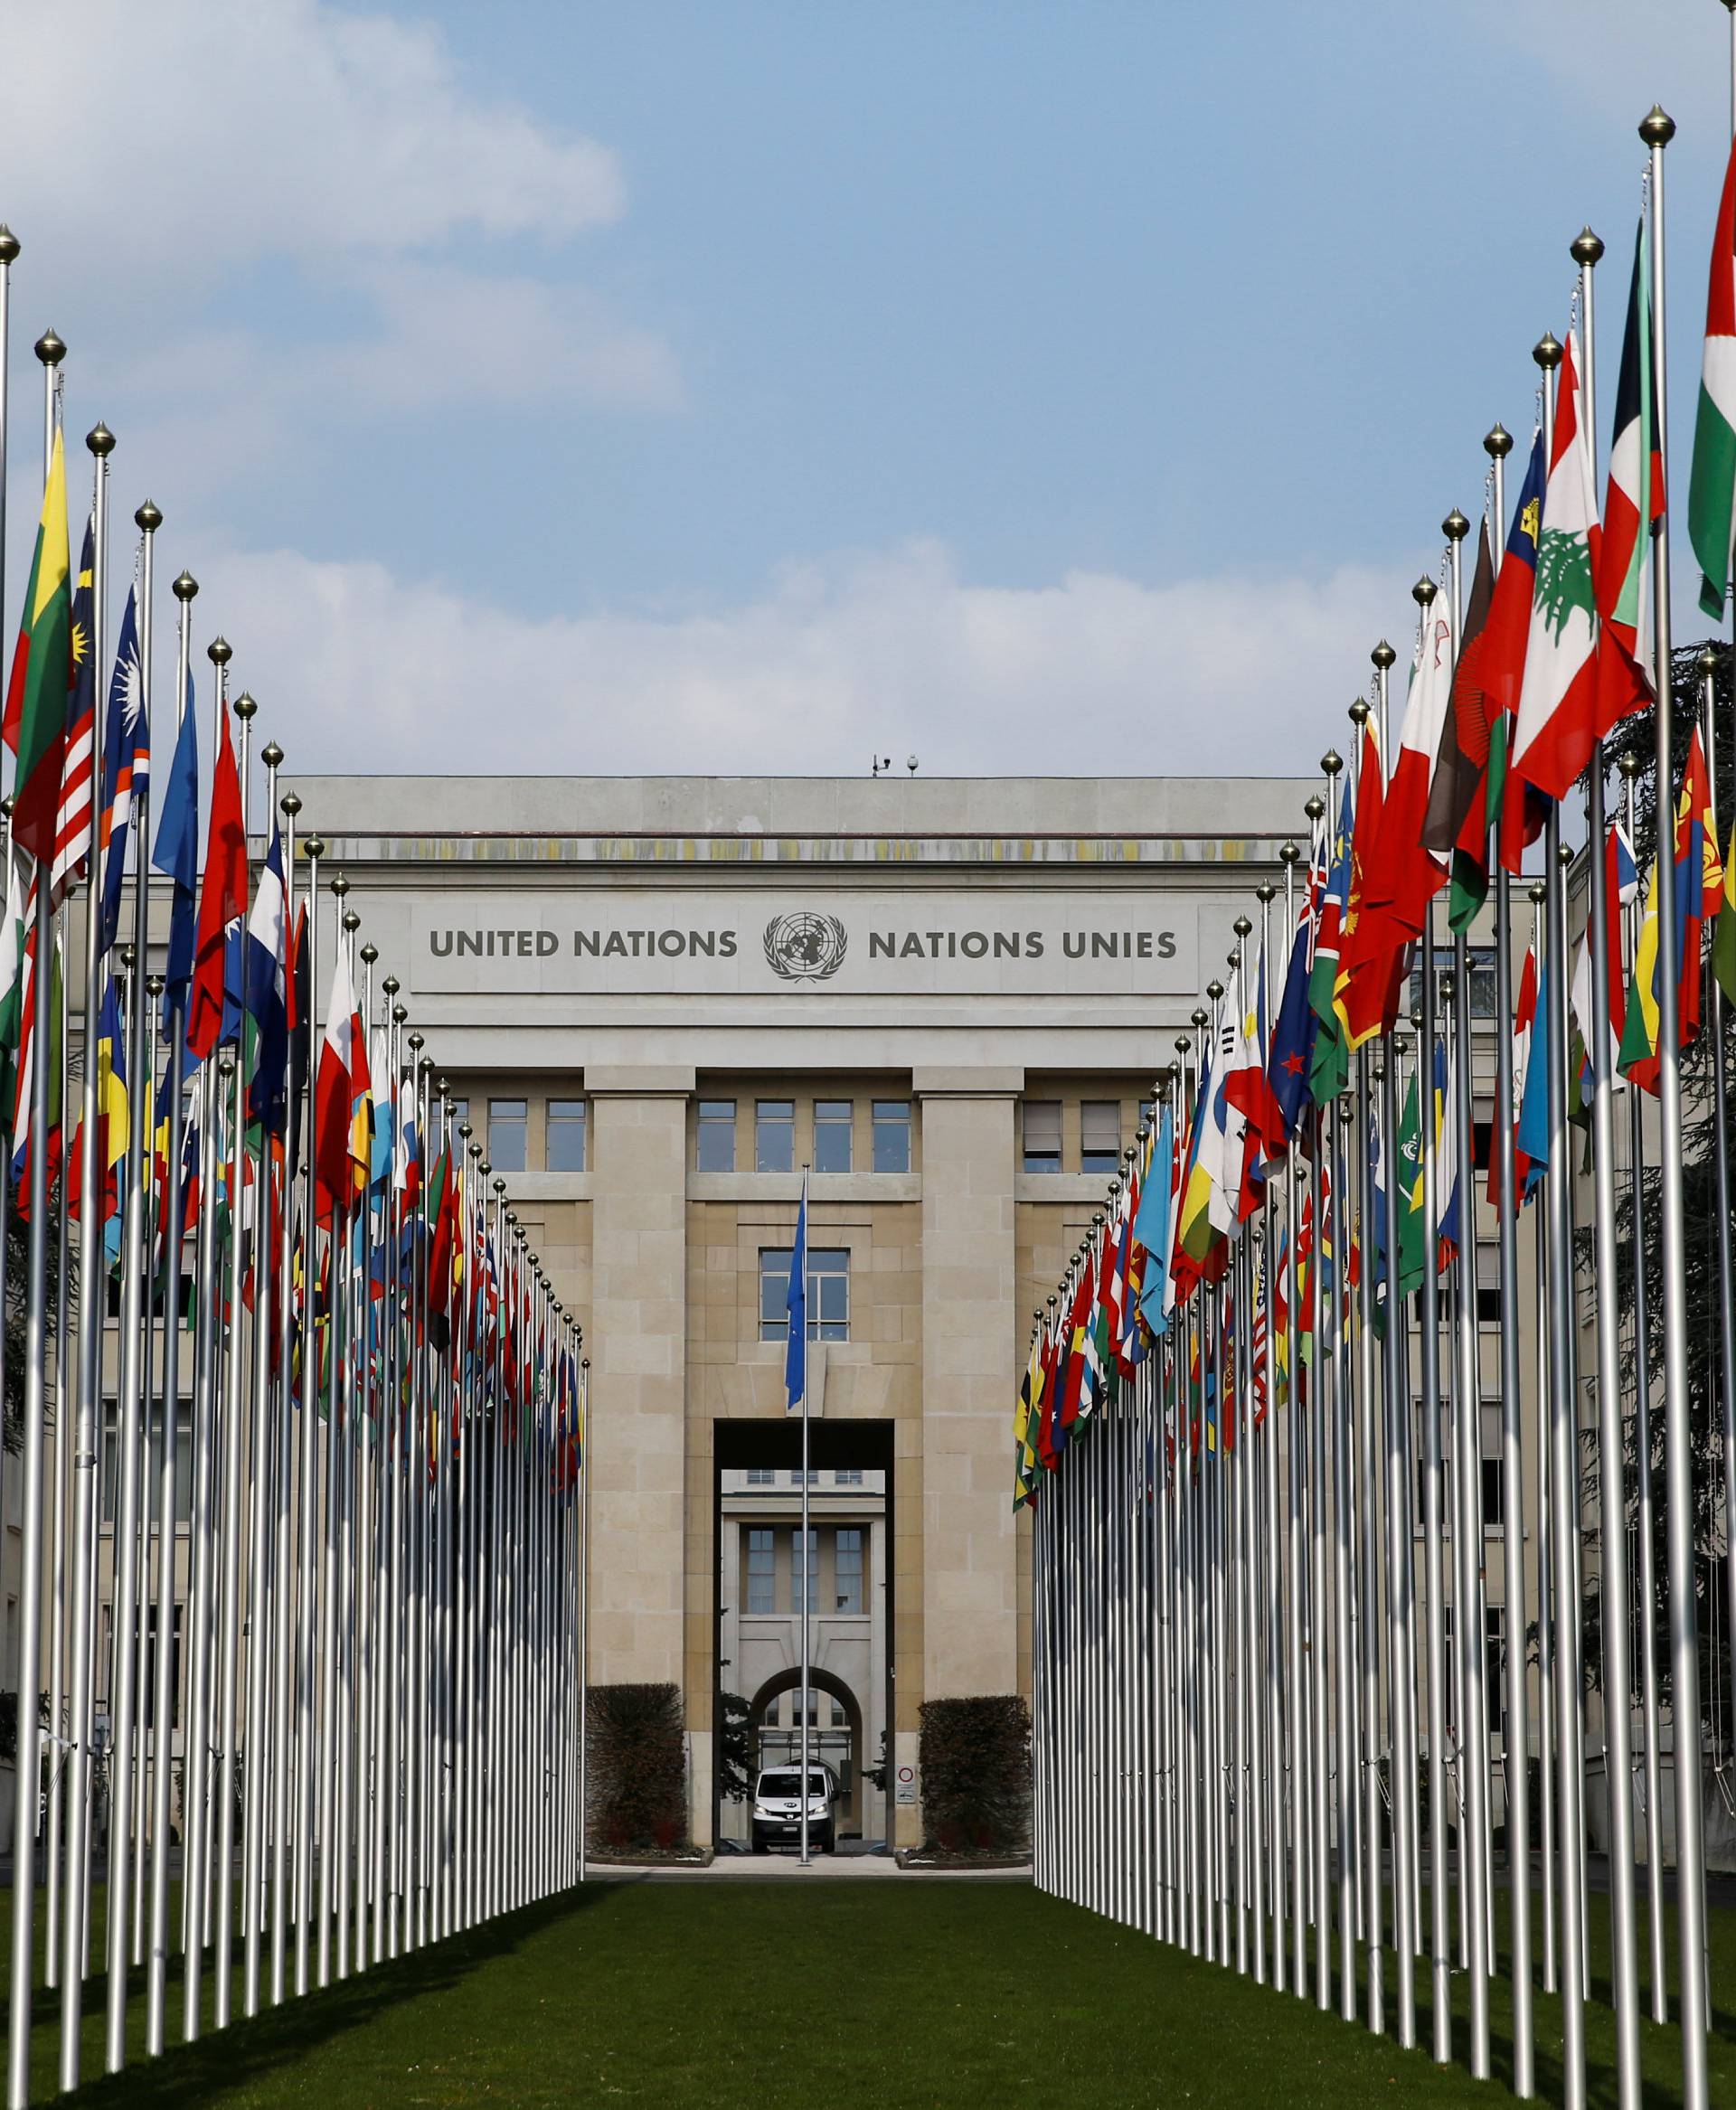
[[[1496,578],[1506,553],[1506,458],[1512,435],[1500,424],[1483,439],[1491,462],[1491,506]],[[1531,1781],[1529,1781],[1529,1675],[1525,1667],[1525,1517],[1521,1490],[1525,1485],[1525,1437],[1519,1395],[1519,1177],[1515,1163],[1515,1080],[1512,1080],[1512,893],[1508,876],[1493,855],[1493,829],[1485,825],[1483,855],[1496,893],[1496,1167],[1500,1207],[1496,1230],[1500,1239],[1502,1323],[1500,1323],[1500,1397],[1502,1397],[1502,1604],[1506,1606],[1506,1739],[1504,1739],[1504,1804],[1508,1910],[1512,1916],[1512,2091],[1529,2097],[1534,2083],[1531,2038]]]

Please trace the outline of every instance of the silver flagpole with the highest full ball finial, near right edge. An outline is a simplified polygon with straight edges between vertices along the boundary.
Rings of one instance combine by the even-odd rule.
[[[1669,371],[1664,335],[1664,148],[1675,122],[1652,108],[1639,127],[1652,156],[1652,371],[1658,376],[1658,460],[1669,464]],[[1671,755],[1671,534],[1660,517],[1652,544],[1654,637],[1658,652],[1658,867],[1675,783]],[[1658,886],[1658,1110],[1664,1217],[1664,1479],[1669,1488],[1671,1718],[1675,1722],[1677,1929],[1681,1945],[1681,2095],[1706,2104],[1706,1821],[1700,1785],[1700,1637],[1694,1604],[1694,1447],[1687,1388],[1687,1251],[1681,1179],[1681,1047],[1675,888]],[[1683,1751],[1683,1743],[1687,1749]]]

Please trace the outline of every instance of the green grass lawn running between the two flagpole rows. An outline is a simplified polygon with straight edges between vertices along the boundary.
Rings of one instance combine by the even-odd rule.
[[[1502,1899],[1504,1905],[1504,1899]],[[1601,1969],[1603,1901],[1593,1901]],[[1736,1914],[1713,1914],[1711,2097],[1736,2102]],[[1645,1979],[1641,1979],[1645,1983]],[[1453,1981],[1458,2002],[1464,1979]],[[1417,1975],[1426,2045],[1428,1979]],[[59,2002],[34,2032],[55,2087]],[[1607,1986],[1597,1990],[1607,2000]],[[1388,1958],[1388,2002],[1392,2000]],[[86,1994],[101,2070],[103,1990]],[[1493,1988],[1496,2072],[1510,2072]],[[133,2000],[141,2034],[143,2002]],[[171,1973],[171,2036],[179,1969]],[[1614,2017],[1588,2015],[1590,2102],[1616,2102]],[[1645,2097],[1679,2099],[1679,2036],[1643,2026]],[[1538,1996],[1538,2089],[1561,2099],[1559,2002]],[[856,2106],[1498,2104],[1436,2068],[1021,1882],[593,1882],[89,2085],[80,2102],[656,2110]]]

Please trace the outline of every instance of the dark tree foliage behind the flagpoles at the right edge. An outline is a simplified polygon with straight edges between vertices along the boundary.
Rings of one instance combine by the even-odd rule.
[[[1709,639],[1715,654],[1713,707],[1717,724],[1730,722],[1732,711],[1732,667],[1730,646]],[[1679,783],[1687,762],[1687,747],[1694,726],[1700,720],[1702,673],[1698,667],[1706,644],[1681,646],[1671,656],[1675,679],[1675,713],[1671,720],[1671,768]],[[1656,770],[1656,720],[1650,711],[1626,720],[1607,743],[1612,762],[1612,789],[1605,793],[1612,817],[1622,804],[1622,779],[1616,766],[1624,755],[1639,764],[1635,774],[1635,859],[1641,871],[1641,890],[1650,878],[1652,855],[1658,842],[1658,770]],[[1721,848],[1730,842],[1730,814],[1736,781],[1728,753],[1719,753],[1717,770],[1717,812],[1723,833]],[[1709,1017],[1709,1011],[1706,1011]],[[1723,1019],[1723,1061],[1725,1074],[1736,1074],[1736,1015]],[[1626,1129],[1628,1110],[1616,1106],[1616,1120]],[[1683,1184],[1683,1255],[1685,1255],[1685,1302],[1687,1302],[1687,1397],[1690,1397],[1690,1450],[1694,1488],[1694,1585],[1696,1616],[1700,1633],[1700,1711],[1706,1728],[1713,1726],[1713,1705],[1719,1690],[1730,1690],[1730,1635],[1723,1618],[1723,1574],[1715,1559],[1723,1545],[1723,1441],[1719,1433],[1719,1279],[1717,1279],[1717,1129],[1713,1116],[1713,1034],[1704,1025],[1681,1055],[1681,1184]],[[1618,1163],[1626,1163],[1622,1150]],[[1736,1171],[1736,1169],[1732,1169]],[[1633,1182],[1618,1175],[1616,1182],[1616,1302],[1624,1321],[1637,1312],[1639,1270],[1635,1268],[1635,1192]],[[1652,1618],[1658,1644],[1660,1701],[1671,1703],[1671,1650],[1669,1650],[1669,1591],[1666,1591],[1666,1517],[1664,1492],[1664,1331],[1660,1283],[1664,1279],[1664,1230],[1662,1230],[1662,1175],[1650,1167],[1639,1184],[1637,1196],[1639,1258],[1645,1279],[1645,1378],[1650,1386],[1650,1456],[1647,1477],[1652,1485],[1652,1559],[1658,1589],[1652,1597]],[[1595,1247],[1590,1226],[1578,1239],[1578,1268],[1590,1279],[1595,1268]],[[1624,1403],[1635,1397],[1637,1378],[1637,1336],[1633,1323],[1622,1325],[1622,1380]],[[1601,1481],[1597,1471],[1595,1433],[1582,1431],[1584,1473],[1582,1496],[1588,1517],[1597,1517]],[[1628,1532],[1639,1521],[1639,1420],[1626,1412],[1622,1422],[1622,1456],[1628,1488],[1626,1513]],[[1633,1555],[1637,1566],[1637,1553]],[[1639,1597],[1639,1576],[1631,1578],[1635,1599]],[[1713,1595],[1719,1597],[1713,1616]],[[1586,1682],[1593,1690],[1603,1684],[1603,1604],[1595,1578],[1586,1582],[1582,1604],[1582,1635]],[[1713,1642],[1717,1635],[1717,1665],[1713,1663]],[[1635,1692],[1639,1690],[1639,1642],[1633,1646]]]

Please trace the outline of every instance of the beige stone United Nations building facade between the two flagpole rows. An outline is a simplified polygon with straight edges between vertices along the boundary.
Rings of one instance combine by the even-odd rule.
[[[840,1834],[920,1842],[922,1703],[1029,1690],[1031,1312],[1310,787],[295,789],[584,1325],[591,1682],[679,1686],[698,1844],[745,1836],[726,1711],[770,1762],[804,1705]],[[804,1171],[806,1547],[783,1388]]]

